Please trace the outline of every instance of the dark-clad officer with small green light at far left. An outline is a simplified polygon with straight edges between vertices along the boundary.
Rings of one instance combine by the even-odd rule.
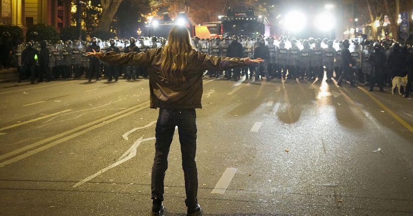
[[[34,73],[36,70],[36,61],[37,61],[37,56],[39,56],[39,53],[37,52],[36,49],[32,47],[33,45],[29,42],[26,44],[26,49],[22,53],[22,71],[21,74],[19,75],[18,82],[20,83],[22,77],[24,74],[26,74],[26,71],[29,70],[30,72],[30,83],[34,83]]]

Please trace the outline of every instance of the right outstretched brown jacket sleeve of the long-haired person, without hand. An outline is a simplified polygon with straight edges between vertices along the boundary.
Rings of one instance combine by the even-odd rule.
[[[245,66],[239,57],[215,56],[197,51],[197,58],[201,62],[201,70],[224,71]]]

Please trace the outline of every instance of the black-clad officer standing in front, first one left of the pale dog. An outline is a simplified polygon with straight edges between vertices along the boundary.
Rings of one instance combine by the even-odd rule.
[[[381,92],[384,92],[383,85],[384,85],[384,75],[386,72],[386,55],[381,52],[382,46],[379,42],[374,43],[374,53],[369,56],[367,60],[373,66],[373,74],[370,79],[370,89],[369,91],[373,91],[373,87],[376,83],[379,84],[379,88]]]

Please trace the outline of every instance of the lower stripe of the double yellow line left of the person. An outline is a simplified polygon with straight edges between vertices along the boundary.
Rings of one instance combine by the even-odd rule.
[[[141,106],[141,107],[137,108],[138,106]],[[32,150],[32,151],[29,151],[29,152],[27,152],[27,153],[24,153],[24,154],[22,154],[22,155],[19,155],[19,156],[17,156],[17,157],[14,157],[14,158],[12,158],[12,159],[9,159],[9,160],[7,160],[7,161],[5,161],[5,162],[1,162],[1,163],[0,163],[0,167],[3,167],[3,166],[5,166],[5,165],[11,164],[11,163],[14,163],[14,162],[17,162],[17,161],[20,161],[20,160],[22,160],[22,159],[25,159],[25,158],[27,158],[27,157],[29,157],[29,156],[31,156],[31,155],[34,155],[34,154],[36,154],[36,153],[38,153],[38,152],[41,152],[41,151],[43,151],[43,150],[46,150],[46,149],[48,149],[48,148],[51,148],[51,147],[53,147],[53,146],[55,146],[55,145],[57,145],[57,144],[60,144],[60,143],[62,143],[62,142],[64,142],[64,141],[67,141],[67,140],[72,139],[72,138],[74,138],[74,137],[77,137],[77,136],[79,136],[79,135],[86,134],[86,133],[88,133],[88,132],[90,132],[90,131],[92,131],[92,130],[95,130],[96,128],[100,128],[100,127],[102,127],[102,126],[104,126],[104,125],[107,125],[107,124],[109,124],[109,123],[111,123],[111,122],[117,121],[117,120],[120,119],[120,118],[123,118],[123,117],[125,117],[125,116],[128,116],[128,115],[130,115],[130,114],[133,114],[133,113],[135,113],[135,112],[137,112],[137,111],[140,111],[140,110],[145,109],[145,108],[148,108],[148,107],[149,107],[149,102],[144,102],[144,103],[142,103],[142,104],[140,104],[140,105],[137,105],[137,106],[132,107],[132,110],[131,110],[131,108],[128,108],[128,110],[131,110],[131,111],[126,112],[126,113],[124,113],[124,114],[121,114],[121,115],[119,115],[119,116],[117,116],[117,117],[115,117],[115,118],[109,119],[109,120],[105,121],[105,123],[100,122],[100,124],[93,125],[92,127],[89,127],[89,128],[84,129],[84,130],[82,130],[82,131],[79,131],[79,132],[77,132],[77,133],[75,133],[75,134],[72,134],[72,135],[69,135],[69,136],[65,136],[65,137],[63,137],[63,138],[61,138],[61,139],[58,139],[58,140],[56,140],[56,141],[53,141],[53,142],[51,142],[51,143],[49,143],[49,144],[47,144],[47,145],[41,146],[41,147],[39,147],[39,148],[36,148],[36,149],[34,149],[34,150]],[[94,122],[96,122],[96,121],[94,121]],[[90,123],[89,123],[89,124],[90,124]],[[89,125],[89,124],[88,124],[88,125]]]

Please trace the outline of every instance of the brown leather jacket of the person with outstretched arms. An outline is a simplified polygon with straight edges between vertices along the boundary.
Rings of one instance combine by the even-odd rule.
[[[184,82],[169,82],[161,77],[162,48],[141,53],[118,54],[108,52],[100,60],[119,66],[146,67],[149,74],[150,108],[202,108],[202,78],[205,70],[224,71],[245,66],[238,57],[213,56],[192,50],[187,55]]]

